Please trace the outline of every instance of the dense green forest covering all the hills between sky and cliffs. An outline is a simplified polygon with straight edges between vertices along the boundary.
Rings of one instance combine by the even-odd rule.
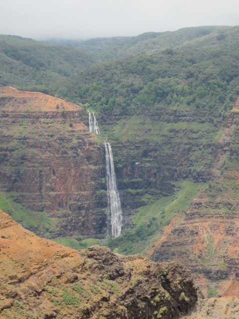
[[[227,109],[238,92],[237,33],[238,27],[195,27],[75,47],[1,36],[0,84],[114,114],[141,113],[160,103]],[[99,52],[110,50],[118,54],[115,61],[100,63]]]

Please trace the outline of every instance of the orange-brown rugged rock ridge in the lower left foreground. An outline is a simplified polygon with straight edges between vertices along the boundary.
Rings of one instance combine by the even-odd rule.
[[[198,299],[177,263],[75,251],[25,230],[0,211],[0,318],[173,319]]]

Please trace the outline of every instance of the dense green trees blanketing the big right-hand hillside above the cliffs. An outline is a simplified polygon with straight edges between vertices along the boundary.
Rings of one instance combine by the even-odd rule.
[[[178,31],[182,35],[186,30]],[[69,79],[68,98],[89,103],[102,113],[124,115],[152,114],[160,105],[179,110],[228,109],[239,90],[235,32],[238,27],[224,28],[225,39],[218,41],[215,29],[206,37],[204,33],[201,41],[174,44],[173,55],[157,50],[93,66]]]

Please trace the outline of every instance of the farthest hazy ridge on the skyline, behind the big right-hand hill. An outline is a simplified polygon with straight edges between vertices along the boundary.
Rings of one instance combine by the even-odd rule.
[[[77,47],[95,55],[100,61],[112,61],[129,55],[152,54],[175,48],[188,41],[213,32],[232,28],[228,26],[198,26],[177,31],[145,32],[132,37],[94,38],[85,41],[51,40],[50,44],[64,44]]]

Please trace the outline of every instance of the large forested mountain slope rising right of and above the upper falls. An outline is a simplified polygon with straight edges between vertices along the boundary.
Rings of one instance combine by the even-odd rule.
[[[90,103],[98,110],[118,114],[126,109],[128,112],[151,112],[153,105],[157,103],[166,103],[169,106],[173,94],[178,97],[177,101],[181,95],[180,101],[183,104],[184,100],[186,105],[191,104],[190,99],[197,101],[196,104],[200,100],[210,107],[212,104],[222,105],[230,87],[233,89],[237,86],[238,32],[239,27],[218,26],[165,32],[145,40],[148,43],[147,54],[134,54],[113,62],[93,65],[66,79],[66,86],[59,88],[58,94],[62,96],[67,91],[68,96],[65,98]],[[141,37],[142,35],[139,36]],[[146,50],[146,46],[142,46],[145,41],[128,46],[128,50],[134,50],[137,45]],[[161,46],[155,44],[153,48],[152,41],[158,41]],[[157,52],[149,54],[151,51]],[[165,82],[165,87],[162,81]],[[188,91],[183,96],[182,92],[174,92],[173,81],[176,81],[175,86],[186,86],[191,93],[188,94]],[[196,93],[198,90],[202,94]],[[212,94],[214,98],[210,98],[209,102],[208,97]]]

